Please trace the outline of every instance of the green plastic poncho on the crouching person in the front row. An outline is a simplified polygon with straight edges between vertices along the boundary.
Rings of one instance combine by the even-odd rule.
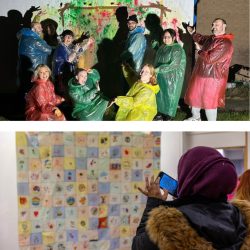
[[[73,101],[72,116],[80,121],[102,121],[108,105],[108,99],[96,88],[96,81],[100,80],[97,70],[88,73],[85,85],[74,85],[72,78],[69,81],[69,95]]]

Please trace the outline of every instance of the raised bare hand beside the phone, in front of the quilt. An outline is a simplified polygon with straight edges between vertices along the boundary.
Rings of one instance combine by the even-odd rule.
[[[161,190],[159,187],[160,177],[157,178],[157,180],[154,182],[154,176],[152,175],[150,179],[150,183],[148,181],[148,178],[145,178],[146,181],[146,190],[142,190],[138,187],[139,191],[143,194],[145,194],[147,197],[154,197],[161,200],[166,200],[168,198],[168,190],[166,188],[163,188],[163,194],[161,194]]]

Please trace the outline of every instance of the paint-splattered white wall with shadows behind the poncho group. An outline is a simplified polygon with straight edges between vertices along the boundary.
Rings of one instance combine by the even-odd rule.
[[[115,74],[121,70],[119,63],[116,60],[119,58],[124,47],[125,26],[118,23],[115,12],[119,7],[127,7],[128,14],[137,14],[139,24],[145,26],[145,19],[148,14],[155,14],[161,19],[163,29],[173,28],[177,32],[177,40],[183,45],[187,54],[187,70],[184,83],[185,93],[190,74],[192,60],[192,38],[186,34],[182,23],[193,23],[194,0],[95,0],[95,1],[80,1],[80,0],[35,0],[30,3],[28,0],[13,0],[7,1],[0,9],[0,28],[6,29],[4,41],[0,41],[0,46],[5,47],[3,57],[7,58],[0,67],[2,81],[0,84],[0,93],[14,93],[16,91],[16,62],[17,62],[17,47],[18,41],[16,33],[28,21],[34,18],[38,13],[31,5],[38,7],[41,10],[47,11],[47,14],[42,16],[40,21],[45,19],[53,19],[58,23],[57,33],[61,34],[63,29],[71,29],[74,31],[76,38],[82,32],[88,31],[91,36],[96,39],[96,43],[90,46],[90,49],[82,53],[79,57],[78,65],[80,67],[94,67],[101,75],[100,86],[107,95],[112,92],[117,82],[120,80],[120,74],[110,79],[110,74]],[[28,25],[29,26],[29,25]],[[151,42],[155,39],[149,36],[154,33],[157,25],[149,26],[146,29],[148,35],[147,57],[145,62],[153,63],[155,50],[151,48]],[[119,29],[118,29],[119,28]],[[160,29],[159,25],[158,28]],[[151,29],[151,31],[150,31]],[[121,35],[122,33],[123,35]],[[125,32],[126,33],[126,32]],[[161,36],[159,36],[161,41]],[[113,63],[113,64],[112,64]],[[106,77],[108,75],[108,77]],[[3,84],[8,82],[8,84]],[[108,87],[106,87],[108,85]],[[106,89],[108,89],[106,91]],[[110,97],[117,96],[117,91],[114,91]]]

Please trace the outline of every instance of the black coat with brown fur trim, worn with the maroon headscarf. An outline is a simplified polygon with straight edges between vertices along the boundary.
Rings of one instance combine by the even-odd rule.
[[[133,239],[132,250],[250,249],[249,201],[234,200],[233,206],[220,200],[202,201],[200,204],[197,201],[188,201],[188,205],[178,203],[177,200],[173,203],[171,201],[163,202],[156,198],[148,199],[137,234]],[[153,207],[153,203],[158,204]],[[166,206],[171,203],[175,207]],[[186,201],[182,201],[182,203],[186,203]],[[202,205],[203,209],[200,209]],[[216,208],[218,208],[218,212],[216,212]],[[193,210],[198,213],[193,213]],[[209,214],[210,212],[211,214]],[[204,222],[206,218],[208,219]],[[215,234],[220,234],[225,230],[221,233],[222,236],[213,235],[211,231],[216,228],[219,230]],[[228,237],[233,238],[232,236],[235,236],[235,239],[232,240],[235,242],[232,245],[214,248],[216,243],[217,246],[220,245],[218,238],[219,242],[224,242],[221,244],[223,245],[227,244]],[[207,240],[213,237],[217,238],[217,242]]]

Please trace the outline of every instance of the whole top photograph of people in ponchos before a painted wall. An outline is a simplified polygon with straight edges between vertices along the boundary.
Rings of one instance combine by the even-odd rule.
[[[0,9],[0,122],[249,121],[249,1]]]

